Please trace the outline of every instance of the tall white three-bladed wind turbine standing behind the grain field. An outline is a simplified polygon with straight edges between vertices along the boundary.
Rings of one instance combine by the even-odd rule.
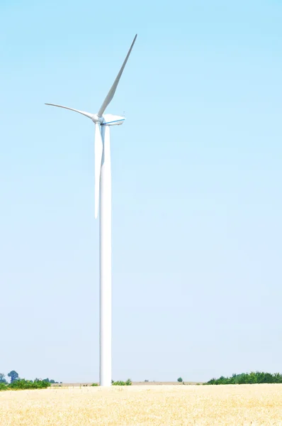
[[[119,126],[124,116],[103,114],[110,104],[123,74],[126,62],[137,38],[128,50],[128,54],[118,72],[97,114],[79,111],[62,105],[52,105],[79,112],[95,124],[95,218],[100,207],[100,386],[111,386],[111,147],[110,126]],[[99,204],[100,200],[100,204]]]

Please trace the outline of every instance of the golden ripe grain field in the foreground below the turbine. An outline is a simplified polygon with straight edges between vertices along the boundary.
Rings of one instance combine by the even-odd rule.
[[[143,385],[3,391],[0,425],[282,426],[282,385]]]

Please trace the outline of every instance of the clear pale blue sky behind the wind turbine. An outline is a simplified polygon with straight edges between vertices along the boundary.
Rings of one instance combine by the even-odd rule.
[[[0,0],[0,372],[98,381],[96,112],[113,379],[282,371],[282,4]]]

